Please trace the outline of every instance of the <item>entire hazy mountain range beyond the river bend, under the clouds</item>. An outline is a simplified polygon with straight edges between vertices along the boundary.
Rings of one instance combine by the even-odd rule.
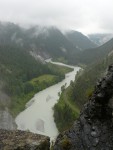
[[[13,23],[2,22],[0,43],[17,45],[41,60],[52,57],[70,64],[87,63],[87,55],[92,59],[90,51],[93,50],[85,49],[96,47],[96,44],[77,31],[63,34],[55,27],[34,26],[25,29]],[[95,50],[93,53],[97,56]]]

